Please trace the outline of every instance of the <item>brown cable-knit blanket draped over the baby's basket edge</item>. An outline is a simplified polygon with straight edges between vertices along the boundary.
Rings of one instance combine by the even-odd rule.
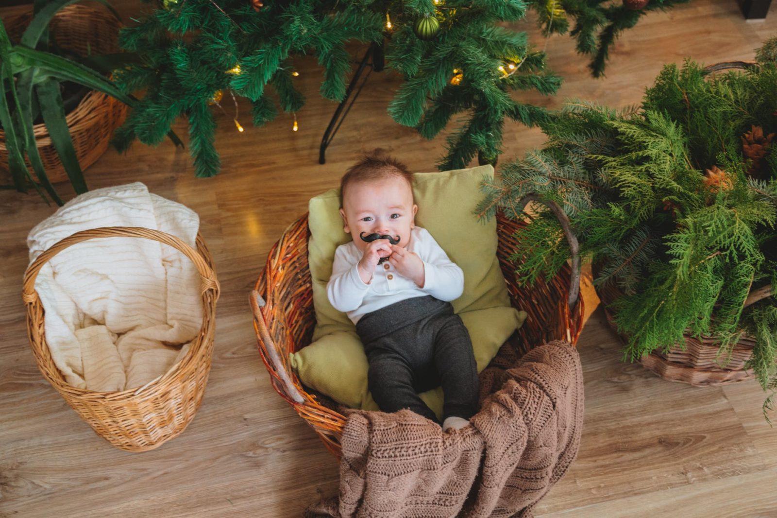
[[[340,495],[305,516],[532,516],[580,446],[580,357],[563,341],[521,359],[505,345],[480,384],[481,410],[461,430],[408,410],[348,411]]]

